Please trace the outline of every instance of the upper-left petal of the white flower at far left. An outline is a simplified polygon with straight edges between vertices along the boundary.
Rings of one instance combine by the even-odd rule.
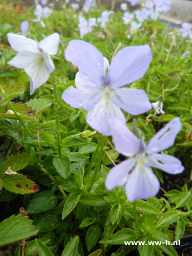
[[[12,33],[8,33],[8,41],[10,46],[16,51],[30,51],[30,52],[39,52],[38,42],[36,42],[33,39],[29,39],[25,37],[24,35],[16,35]]]

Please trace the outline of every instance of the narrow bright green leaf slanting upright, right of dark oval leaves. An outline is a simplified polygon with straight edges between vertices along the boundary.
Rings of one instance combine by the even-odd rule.
[[[70,214],[70,212],[75,208],[75,206],[79,202],[80,196],[81,194],[74,192],[68,197],[62,211],[62,219],[65,219]]]

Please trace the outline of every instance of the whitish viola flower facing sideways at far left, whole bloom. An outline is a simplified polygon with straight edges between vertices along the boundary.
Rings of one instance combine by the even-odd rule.
[[[18,54],[9,62],[9,65],[24,69],[30,78],[30,94],[42,86],[55,67],[50,55],[56,55],[59,45],[59,34],[53,33],[39,43],[23,35],[8,33],[10,46]]]

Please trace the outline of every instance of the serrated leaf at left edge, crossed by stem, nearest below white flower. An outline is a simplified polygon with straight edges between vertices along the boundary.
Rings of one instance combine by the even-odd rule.
[[[1,74],[0,74],[1,77]],[[13,99],[19,95],[21,95],[22,93],[24,93],[24,88],[21,87],[14,87],[12,86],[4,86],[2,87],[2,89],[4,90],[4,92],[6,93],[7,97],[9,99]],[[6,98],[4,96],[4,94],[2,93],[2,91],[0,92],[0,104],[2,105],[4,102],[6,102]]]

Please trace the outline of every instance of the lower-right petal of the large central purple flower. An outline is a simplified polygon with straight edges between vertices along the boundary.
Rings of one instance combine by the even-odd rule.
[[[140,115],[152,109],[145,91],[139,89],[121,88],[114,90],[111,98],[125,112]]]

